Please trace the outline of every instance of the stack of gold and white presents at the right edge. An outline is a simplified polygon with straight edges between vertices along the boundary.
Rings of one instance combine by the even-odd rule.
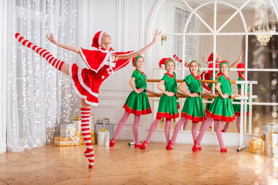
[[[261,154],[267,152],[268,157],[278,158],[278,125],[267,123],[263,125],[263,135],[260,139],[249,141],[249,152]]]

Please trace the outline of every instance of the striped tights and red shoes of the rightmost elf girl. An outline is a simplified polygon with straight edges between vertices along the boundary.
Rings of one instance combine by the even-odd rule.
[[[200,143],[202,141],[202,138],[204,137],[204,133],[208,129],[208,127],[210,125],[212,125],[213,121],[214,121],[213,118],[207,117],[207,120],[204,122],[204,125],[202,125],[202,127],[200,129],[200,132],[199,132],[199,135],[196,139],[196,148],[200,147]],[[221,120],[215,120],[215,121],[217,121],[217,124],[214,125],[214,130],[216,131],[217,139],[218,139],[221,151],[226,151],[225,146],[224,146],[224,142],[223,142],[223,139],[222,139],[222,133],[221,133],[223,122]]]

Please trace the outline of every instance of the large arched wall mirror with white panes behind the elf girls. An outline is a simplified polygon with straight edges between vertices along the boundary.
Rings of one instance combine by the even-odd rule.
[[[203,62],[202,57],[208,60],[208,56],[214,50],[214,42],[220,60],[228,60],[230,64],[237,61],[240,51],[243,51],[239,62],[246,63],[247,60],[246,80],[258,81],[258,84],[252,86],[252,93],[257,95],[257,98],[252,99],[253,103],[249,105],[252,109],[252,116],[246,117],[244,130],[247,134],[262,134],[262,125],[269,122],[277,123],[276,73],[278,70],[276,58],[278,42],[277,35],[273,35],[270,37],[270,41],[263,45],[255,34],[252,35],[252,32],[259,30],[261,19],[266,16],[269,30],[273,33],[278,26],[276,14],[271,2],[260,0],[233,2],[224,0],[217,2],[216,12],[214,7],[214,2],[208,3],[203,0],[168,0],[164,3],[155,27],[162,30],[162,34],[167,37],[167,40],[154,48],[155,51],[158,51],[153,56],[154,79],[161,78],[166,72],[164,68],[160,69],[158,66],[159,60],[164,57],[173,58],[173,55],[177,55],[183,60],[181,63],[176,61],[175,72],[177,79],[184,79],[186,75],[190,74],[188,68],[184,67],[185,62],[198,60],[202,68],[208,68],[208,64]],[[196,10],[196,8],[198,9]],[[241,11],[237,11],[238,8]],[[214,20],[216,21],[215,28]],[[205,69],[203,71],[207,72]],[[231,80],[238,79],[236,65],[229,72],[229,77]],[[158,89],[155,91],[159,92]],[[232,84],[232,92],[238,93],[236,84]],[[154,99],[154,117],[158,101],[158,98]],[[181,109],[184,101],[185,98],[179,99]],[[177,121],[178,119],[174,120],[173,128]],[[201,123],[198,130],[200,125]],[[223,127],[224,125],[225,122]],[[158,125],[158,129],[164,129],[163,120]],[[187,130],[191,130],[191,121],[189,121]],[[211,129],[209,128],[207,131],[211,131]],[[238,133],[236,120],[230,124],[228,132]]]

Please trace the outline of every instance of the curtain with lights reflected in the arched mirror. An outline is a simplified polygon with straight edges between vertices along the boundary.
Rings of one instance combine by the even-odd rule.
[[[189,12],[175,8],[175,17],[174,17],[174,33],[183,33],[185,28],[185,23],[189,16]],[[196,32],[199,25],[199,20],[193,14],[188,26],[186,33]],[[190,62],[191,60],[196,60],[197,56],[197,36],[186,35],[185,36],[185,53],[183,58],[183,35],[177,35],[174,37],[173,42],[173,53],[179,56],[184,62]],[[178,63],[177,67],[181,68],[184,63]],[[190,73],[186,71],[187,73]],[[183,79],[183,76],[180,72],[177,72],[177,78]]]

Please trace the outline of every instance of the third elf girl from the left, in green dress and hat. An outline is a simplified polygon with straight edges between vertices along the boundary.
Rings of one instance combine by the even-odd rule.
[[[169,141],[169,144],[166,148],[167,150],[173,149],[173,146],[175,145],[175,141],[181,126],[183,125],[186,127],[188,120],[192,120],[191,132],[192,132],[193,141],[195,143],[195,140],[197,139],[198,136],[197,134],[198,122],[204,121],[206,119],[201,95],[215,97],[215,95],[211,93],[202,94],[203,86],[201,84],[201,78],[200,76],[198,76],[198,72],[200,71],[200,64],[198,63],[198,61],[192,60],[189,63],[189,70],[191,74],[186,76],[186,78],[183,79],[183,82],[178,87],[178,89],[181,92],[187,95],[187,98],[183,105],[181,117],[175,126],[172,139]],[[184,90],[183,87],[185,85],[188,86],[190,93]]]

